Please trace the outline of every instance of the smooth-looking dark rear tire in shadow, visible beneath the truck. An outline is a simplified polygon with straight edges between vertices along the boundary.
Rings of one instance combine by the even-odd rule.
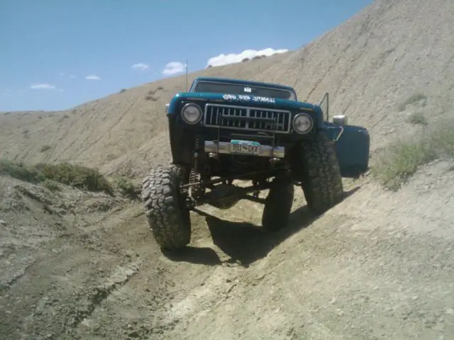
[[[265,200],[262,215],[262,227],[267,232],[277,232],[289,223],[294,196],[293,182],[275,180]]]

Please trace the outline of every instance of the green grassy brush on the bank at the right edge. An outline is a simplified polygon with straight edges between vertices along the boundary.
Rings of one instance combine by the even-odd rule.
[[[372,176],[385,188],[397,190],[416,170],[435,159],[454,157],[454,124],[441,123],[414,137],[398,140],[377,155]]]

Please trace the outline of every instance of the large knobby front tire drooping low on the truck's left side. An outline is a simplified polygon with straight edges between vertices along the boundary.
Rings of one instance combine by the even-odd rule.
[[[182,182],[184,169],[173,164],[157,167],[143,179],[145,215],[157,244],[164,249],[181,248],[191,241],[191,218],[179,191]]]

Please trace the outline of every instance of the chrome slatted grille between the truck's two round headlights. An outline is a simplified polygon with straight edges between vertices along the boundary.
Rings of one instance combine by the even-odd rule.
[[[206,104],[204,124],[213,128],[290,132],[290,111]]]

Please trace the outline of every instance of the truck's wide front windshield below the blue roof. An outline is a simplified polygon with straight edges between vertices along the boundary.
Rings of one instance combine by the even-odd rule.
[[[216,83],[214,81],[197,82],[194,92],[212,92],[216,94],[244,94],[246,96],[271,97],[294,101],[292,91],[272,87],[248,86],[248,84]]]

